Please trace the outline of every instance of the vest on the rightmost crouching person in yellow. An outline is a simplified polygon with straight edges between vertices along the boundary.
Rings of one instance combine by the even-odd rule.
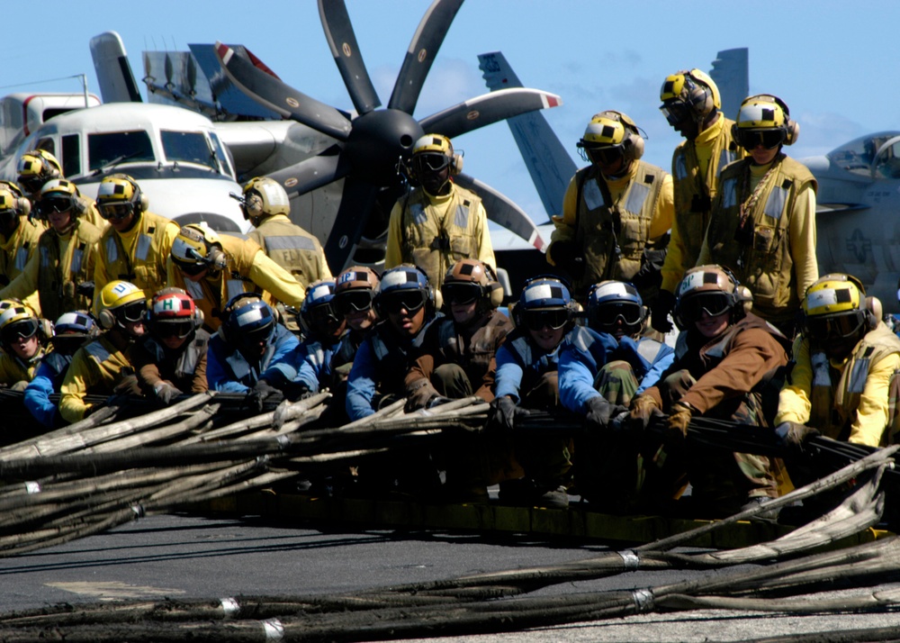
[[[802,341],[809,340],[804,338]],[[847,439],[860,406],[860,396],[866,388],[869,370],[882,359],[895,354],[900,354],[900,339],[880,321],[874,331],[867,332],[860,340],[840,370],[831,366],[824,351],[810,346],[809,357],[813,367],[810,425],[829,438]],[[895,420],[888,418],[887,425]],[[882,446],[886,440],[887,433],[882,435]]]

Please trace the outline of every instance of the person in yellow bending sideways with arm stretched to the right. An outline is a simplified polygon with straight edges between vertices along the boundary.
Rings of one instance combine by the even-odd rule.
[[[202,223],[185,225],[166,263],[170,287],[182,288],[203,312],[203,325],[218,331],[222,311],[236,294],[266,291],[300,309],[306,291],[253,240],[218,235]]]

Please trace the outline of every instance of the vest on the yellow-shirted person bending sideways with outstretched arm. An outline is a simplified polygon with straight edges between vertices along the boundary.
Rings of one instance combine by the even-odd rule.
[[[256,285],[250,280],[250,268],[257,252],[262,252],[254,240],[220,236],[222,249],[228,255],[228,267],[224,270],[210,270],[199,282],[185,279],[181,270],[171,271],[174,285],[184,288],[203,312],[203,323],[210,331],[217,331],[222,322],[222,309],[236,294],[250,293]]]

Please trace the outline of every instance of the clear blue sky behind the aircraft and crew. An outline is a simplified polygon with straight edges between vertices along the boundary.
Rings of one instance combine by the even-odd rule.
[[[428,2],[347,0],[356,39],[382,102]],[[265,7],[265,9],[264,9]],[[46,20],[43,18],[46,17]],[[87,42],[116,31],[140,77],[142,50],[188,43],[246,45],[291,86],[342,109],[351,107],[321,29],[314,0],[109,2],[49,0],[4,6],[0,95],[79,91],[78,81],[25,85],[88,74],[99,93]],[[416,116],[487,91],[477,54],[501,50],[526,86],[561,95],[545,115],[575,156],[593,113],[628,113],[648,134],[645,160],[671,166],[679,142],[658,110],[662,79],[680,68],[708,70],[718,50],[750,48],[752,94],[783,98],[801,125],[803,158],[870,131],[900,129],[900,73],[894,0],[799,0],[777,5],[683,0],[467,0],[432,68]],[[14,86],[14,83],[22,83]],[[465,170],[545,221],[509,128],[497,123],[455,140]]]

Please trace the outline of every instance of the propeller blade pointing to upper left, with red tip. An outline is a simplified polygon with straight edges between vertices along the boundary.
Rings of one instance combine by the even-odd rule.
[[[350,121],[344,114],[266,74],[227,45],[216,41],[215,47],[216,57],[231,82],[258,104],[334,139],[347,140]]]

